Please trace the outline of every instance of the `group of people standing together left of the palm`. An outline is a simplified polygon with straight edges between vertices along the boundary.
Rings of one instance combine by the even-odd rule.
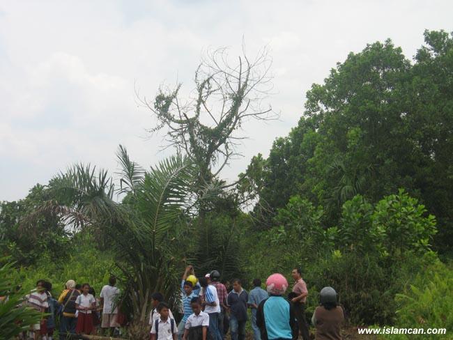
[[[59,318],[59,339],[66,339],[66,334],[95,334],[98,326],[112,330],[116,323],[114,300],[120,291],[115,287],[116,279],[111,277],[109,285],[102,288],[100,299],[95,298],[95,291],[89,284],[76,284],[68,280],[58,300],[52,297],[52,284],[45,280],[36,282],[36,289],[26,295],[24,303],[46,316],[40,323],[31,325],[28,334],[21,334],[20,339],[52,340]],[[44,315],[44,314],[43,314]],[[101,324],[102,315],[102,324]]]

